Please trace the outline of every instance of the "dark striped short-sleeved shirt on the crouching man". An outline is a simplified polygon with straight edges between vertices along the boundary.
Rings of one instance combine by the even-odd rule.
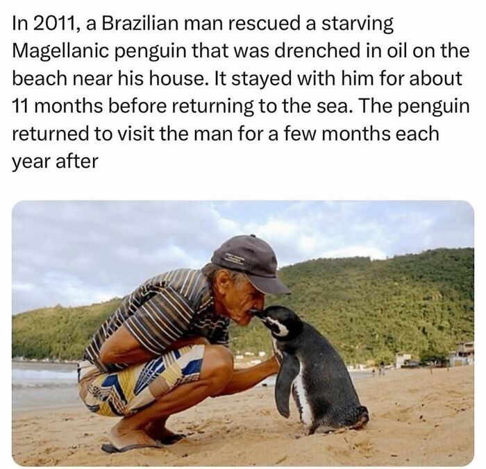
[[[181,268],[162,273],[126,296],[118,309],[94,334],[84,359],[103,371],[122,370],[127,364],[103,364],[103,343],[121,325],[144,348],[162,355],[178,339],[203,336],[210,343],[228,346],[229,318],[216,314],[208,278],[201,271]]]

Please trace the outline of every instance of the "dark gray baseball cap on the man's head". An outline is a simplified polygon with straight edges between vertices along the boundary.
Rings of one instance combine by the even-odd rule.
[[[211,262],[246,274],[253,287],[262,293],[290,293],[277,277],[277,257],[263,239],[240,235],[228,239],[215,250]]]

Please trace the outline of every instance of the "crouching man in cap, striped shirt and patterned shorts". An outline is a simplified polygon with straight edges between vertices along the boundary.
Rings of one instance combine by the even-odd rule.
[[[208,397],[245,391],[278,373],[276,357],[233,369],[230,320],[248,325],[265,293],[290,293],[276,276],[274,250],[254,235],[228,239],[201,271],[179,269],[147,280],[122,300],[94,335],[78,366],[88,409],[121,416],[110,432],[120,452],[159,447],[182,436],[167,418]]]

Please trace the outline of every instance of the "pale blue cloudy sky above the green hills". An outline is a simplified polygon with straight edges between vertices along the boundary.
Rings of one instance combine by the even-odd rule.
[[[278,265],[474,247],[460,201],[24,201],[12,211],[12,314],[122,297],[255,234]]]

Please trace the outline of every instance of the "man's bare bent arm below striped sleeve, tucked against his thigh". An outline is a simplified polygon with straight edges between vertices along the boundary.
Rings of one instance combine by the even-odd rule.
[[[171,343],[171,346],[167,347],[164,352],[181,348],[196,343],[209,344],[209,342],[203,337],[190,337],[189,339],[178,339]],[[131,332],[123,325],[110,336],[99,353],[99,359],[103,364],[110,363],[126,363],[136,364],[144,363],[158,357],[158,355],[146,350],[142,344],[135,339]]]

